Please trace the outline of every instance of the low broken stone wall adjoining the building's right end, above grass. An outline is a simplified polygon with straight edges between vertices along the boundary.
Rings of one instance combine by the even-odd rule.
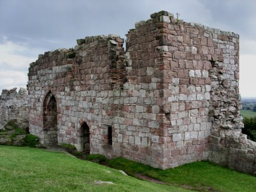
[[[256,175],[256,142],[244,134],[225,137],[210,136],[208,160],[240,172]]]

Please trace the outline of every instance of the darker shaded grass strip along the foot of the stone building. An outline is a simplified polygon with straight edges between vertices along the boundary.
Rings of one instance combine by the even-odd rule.
[[[109,160],[108,164],[132,176],[140,173],[172,185],[190,186],[198,191],[256,191],[256,177],[206,161],[166,170],[152,168],[123,158]]]

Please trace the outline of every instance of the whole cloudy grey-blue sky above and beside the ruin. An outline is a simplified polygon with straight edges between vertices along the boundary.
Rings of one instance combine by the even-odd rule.
[[[76,39],[119,34],[160,10],[240,35],[240,93],[256,97],[255,0],[0,0],[0,90],[26,87],[38,54]]]

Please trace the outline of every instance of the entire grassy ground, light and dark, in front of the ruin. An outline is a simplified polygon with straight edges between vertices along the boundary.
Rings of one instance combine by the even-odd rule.
[[[104,163],[116,169],[60,152],[0,145],[0,191],[256,191],[255,176],[206,161],[166,170],[123,158]],[[155,178],[166,184],[124,176],[118,169],[131,176]],[[95,181],[114,184],[96,184]]]

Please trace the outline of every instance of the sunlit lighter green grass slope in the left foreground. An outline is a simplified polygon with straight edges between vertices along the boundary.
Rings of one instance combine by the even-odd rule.
[[[111,181],[94,184],[95,180]],[[0,145],[1,191],[189,191],[141,181],[64,153]]]

